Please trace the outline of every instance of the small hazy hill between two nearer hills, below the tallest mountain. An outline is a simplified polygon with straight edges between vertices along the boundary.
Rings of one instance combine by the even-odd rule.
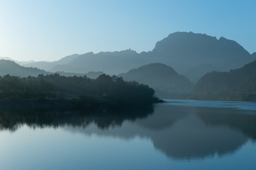
[[[212,64],[199,64],[198,66],[194,66],[189,68],[182,75],[187,77],[193,83],[196,83],[202,76],[207,72],[212,72],[217,70]]]

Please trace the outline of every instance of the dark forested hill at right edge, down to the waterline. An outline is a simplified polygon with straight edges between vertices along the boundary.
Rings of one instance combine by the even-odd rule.
[[[256,101],[256,60],[230,72],[207,73],[192,94],[205,100]]]

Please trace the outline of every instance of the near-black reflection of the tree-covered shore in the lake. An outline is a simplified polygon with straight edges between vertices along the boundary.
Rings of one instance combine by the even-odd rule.
[[[15,131],[22,125],[29,127],[62,127],[69,125],[72,127],[87,127],[94,122],[97,127],[108,128],[110,126],[120,126],[123,121],[145,118],[152,113],[153,108],[145,109],[130,108],[125,110],[99,109],[94,111],[72,110],[1,110],[0,130],[8,129]]]

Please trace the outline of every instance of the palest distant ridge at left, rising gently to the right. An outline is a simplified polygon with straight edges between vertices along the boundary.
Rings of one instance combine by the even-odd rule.
[[[49,71],[54,66],[59,65],[59,64],[67,64],[68,62],[70,62],[71,60],[75,59],[78,56],[79,56],[79,54],[72,54],[70,56],[63,57],[62,59],[53,61],[53,62],[37,61],[37,62],[31,62],[31,63],[24,63],[24,64],[22,64],[22,66],[35,67],[35,68],[44,69],[46,71]]]

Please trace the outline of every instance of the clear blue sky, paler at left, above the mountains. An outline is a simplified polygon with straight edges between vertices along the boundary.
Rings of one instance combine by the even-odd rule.
[[[256,0],[0,0],[0,57],[18,61],[152,51],[177,31],[256,52]]]

